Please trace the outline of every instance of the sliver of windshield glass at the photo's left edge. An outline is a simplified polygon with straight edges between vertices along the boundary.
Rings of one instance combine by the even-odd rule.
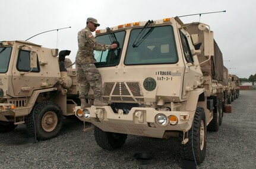
[[[0,47],[0,73],[6,73],[11,57],[11,47]]]

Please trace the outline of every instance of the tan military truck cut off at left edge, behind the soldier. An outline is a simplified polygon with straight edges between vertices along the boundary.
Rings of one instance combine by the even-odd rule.
[[[70,51],[28,41],[0,42],[0,132],[26,124],[37,140],[55,137],[80,105]]]

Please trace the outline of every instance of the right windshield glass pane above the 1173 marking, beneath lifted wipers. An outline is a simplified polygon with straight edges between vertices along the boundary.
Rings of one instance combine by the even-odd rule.
[[[178,61],[172,26],[155,27],[138,47],[133,47],[132,43],[141,29],[131,31],[124,64],[167,64]]]

